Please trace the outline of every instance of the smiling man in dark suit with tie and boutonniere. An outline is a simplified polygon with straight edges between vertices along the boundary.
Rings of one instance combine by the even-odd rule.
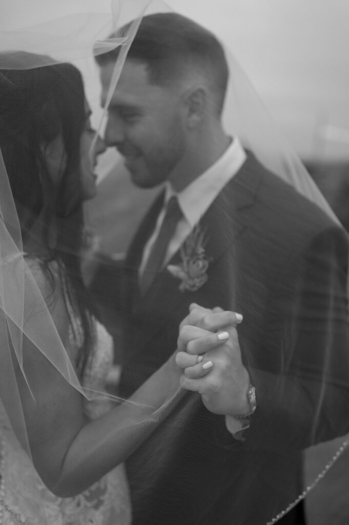
[[[102,101],[117,53],[97,58]],[[127,466],[137,525],[271,519],[271,508],[281,510],[273,498],[283,489],[294,498],[301,491],[301,449],[310,443],[308,424],[314,428],[307,407],[320,398],[316,381],[302,372],[321,377],[327,331],[331,370],[337,384],[347,383],[346,237],[226,135],[227,82],[224,52],[213,35],[179,15],[150,15],[108,108],[105,141],[123,156],[133,183],[165,183],[125,260],[120,394],[129,396],[173,353],[192,302],[244,315],[240,396],[248,413],[225,418],[208,412],[198,396],[183,401],[178,419]],[[284,366],[302,379],[280,400],[272,395],[273,381]],[[343,390],[326,390],[328,413],[320,416],[327,426],[319,425],[315,440],[347,432]],[[290,436],[297,446],[282,455]],[[168,442],[171,447],[163,445]],[[255,460],[245,461],[252,449]],[[297,505],[280,523],[303,520]]]

